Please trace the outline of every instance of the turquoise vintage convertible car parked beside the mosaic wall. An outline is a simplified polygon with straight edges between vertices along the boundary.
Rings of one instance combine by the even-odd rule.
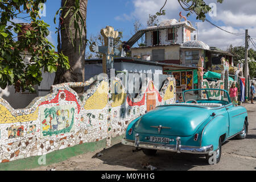
[[[222,143],[246,138],[247,111],[234,106],[226,90],[187,90],[183,99],[132,121],[122,144],[146,155],[155,155],[157,150],[204,154],[209,164],[215,164],[220,161]]]

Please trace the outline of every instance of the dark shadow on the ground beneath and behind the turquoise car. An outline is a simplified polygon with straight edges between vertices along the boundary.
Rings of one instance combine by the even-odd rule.
[[[204,155],[157,151],[155,156],[147,156],[142,151],[133,153],[132,149],[133,147],[123,146],[121,143],[118,143],[108,149],[102,150],[101,153],[103,155],[98,157],[98,159],[111,166],[123,166],[137,170],[143,170],[143,163],[148,163],[162,171],[187,171],[196,166],[209,165]]]

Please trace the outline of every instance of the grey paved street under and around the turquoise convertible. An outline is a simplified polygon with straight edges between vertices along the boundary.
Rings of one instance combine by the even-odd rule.
[[[158,151],[156,156],[146,156],[142,151],[133,153],[131,147],[116,144],[106,150],[75,156],[64,162],[33,170],[147,170],[149,163],[159,170],[256,170],[256,103],[245,104],[249,114],[249,131],[246,139],[230,139],[222,146],[220,163],[208,165],[203,156]],[[103,155],[95,157],[97,152]]]

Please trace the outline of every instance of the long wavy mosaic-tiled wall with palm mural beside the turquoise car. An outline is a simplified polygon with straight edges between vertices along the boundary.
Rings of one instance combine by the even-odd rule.
[[[72,89],[89,85],[80,97]],[[119,78],[110,82],[94,76],[85,82],[53,85],[50,94],[35,98],[24,109],[14,110],[0,97],[0,162],[103,139],[110,146],[133,119],[158,105],[175,103],[175,95],[174,77],[168,77],[160,91],[147,78],[147,85],[133,98]]]

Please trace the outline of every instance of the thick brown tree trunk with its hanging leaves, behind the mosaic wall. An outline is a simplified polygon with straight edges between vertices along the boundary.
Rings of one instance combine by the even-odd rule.
[[[61,0],[61,6],[63,7],[65,5],[65,8],[60,15],[61,40],[59,40],[58,51],[62,51],[65,56],[68,56],[71,68],[69,70],[59,68],[56,72],[54,84],[85,81],[84,59],[86,48],[85,24],[87,1],[88,0]],[[78,12],[77,8],[79,8]],[[76,15],[73,16],[74,14]],[[76,89],[78,93],[81,93],[83,90],[83,88]]]

